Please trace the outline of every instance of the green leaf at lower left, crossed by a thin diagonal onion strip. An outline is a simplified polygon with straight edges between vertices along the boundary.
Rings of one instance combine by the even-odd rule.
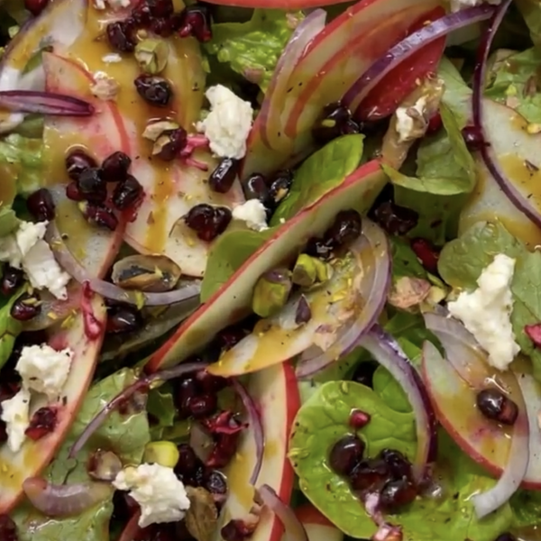
[[[87,393],[87,397],[71,426],[69,436],[60,447],[55,460],[50,464],[46,477],[51,482],[88,481],[87,461],[96,449],[107,449],[117,454],[123,463],[141,463],[144,446],[151,441],[146,411],[120,414],[114,411],[88,440],[76,459],[69,459],[69,449],[78,436],[96,417],[105,403],[136,380],[133,370],[117,371],[105,380],[98,381]]]

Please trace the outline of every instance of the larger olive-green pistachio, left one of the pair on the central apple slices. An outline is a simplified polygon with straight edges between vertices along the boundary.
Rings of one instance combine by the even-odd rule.
[[[265,272],[253,289],[253,312],[261,317],[272,316],[288,302],[292,287],[291,272],[288,269]]]

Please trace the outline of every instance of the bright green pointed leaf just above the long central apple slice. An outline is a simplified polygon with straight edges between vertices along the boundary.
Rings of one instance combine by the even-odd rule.
[[[344,135],[314,152],[295,172],[288,196],[272,215],[279,225],[340,186],[362,160],[364,135]]]

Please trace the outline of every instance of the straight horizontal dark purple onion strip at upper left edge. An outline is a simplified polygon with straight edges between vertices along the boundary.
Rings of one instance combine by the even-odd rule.
[[[15,113],[52,116],[90,116],[94,106],[77,97],[38,90],[0,91],[0,107]]]

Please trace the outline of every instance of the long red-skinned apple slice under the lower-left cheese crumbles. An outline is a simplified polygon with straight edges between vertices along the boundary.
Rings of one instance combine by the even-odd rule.
[[[106,309],[103,299],[94,295],[90,307],[101,333],[96,338],[87,336],[86,312],[74,316],[67,329],[56,328],[48,344],[56,350],[70,348],[73,361],[69,378],[62,390],[57,408],[57,425],[53,432],[38,441],[26,439],[22,449],[14,454],[7,445],[0,447],[0,515],[9,513],[23,498],[23,481],[40,475],[54,457],[78,414],[96,367],[97,356],[105,333]],[[45,400],[32,400],[32,411],[47,406]]]

